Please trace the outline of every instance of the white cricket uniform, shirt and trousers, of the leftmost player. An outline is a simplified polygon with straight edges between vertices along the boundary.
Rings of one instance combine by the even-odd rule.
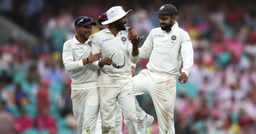
[[[64,43],[62,53],[65,69],[71,71],[71,99],[78,134],[94,134],[99,112],[98,70],[82,63],[91,53],[90,38],[82,44],[74,36]]]

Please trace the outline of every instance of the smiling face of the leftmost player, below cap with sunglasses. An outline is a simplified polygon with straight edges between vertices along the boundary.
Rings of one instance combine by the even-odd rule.
[[[91,24],[87,26],[76,26],[76,31],[78,35],[86,41],[91,35],[91,28]]]

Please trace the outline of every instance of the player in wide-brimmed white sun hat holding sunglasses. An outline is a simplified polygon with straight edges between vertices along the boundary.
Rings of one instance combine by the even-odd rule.
[[[93,35],[95,43],[92,52],[100,53],[101,61],[91,64],[93,69],[100,69],[98,87],[100,94],[100,113],[102,119],[102,134],[115,133],[116,100],[124,114],[127,134],[137,134],[137,117],[135,111],[135,97],[132,91],[131,62],[139,61],[139,42],[143,39],[125,31],[126,15],[121,6],[114,6],[106,14],[108,28]]]

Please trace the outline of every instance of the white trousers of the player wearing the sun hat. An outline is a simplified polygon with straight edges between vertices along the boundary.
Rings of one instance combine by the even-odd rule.
[[[102,134],[115,134],[115,111],[117,101],[124,114],[126,133],[137,134],[138,125],[132,86],[100,87],[99,93]]]

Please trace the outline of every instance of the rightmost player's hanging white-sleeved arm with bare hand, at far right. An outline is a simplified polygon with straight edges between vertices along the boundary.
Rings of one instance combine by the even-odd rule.
[[[191,70],[194,63],[193,47],[192,47],[191,39],[187,32],[183,33],[180,52],[181,52],[182,61],[183,61],[183,68],[181,69],[181,73],[179,73],[178,75],[178,81],[181,84],[183,84],[187,82],[189,71]]]

